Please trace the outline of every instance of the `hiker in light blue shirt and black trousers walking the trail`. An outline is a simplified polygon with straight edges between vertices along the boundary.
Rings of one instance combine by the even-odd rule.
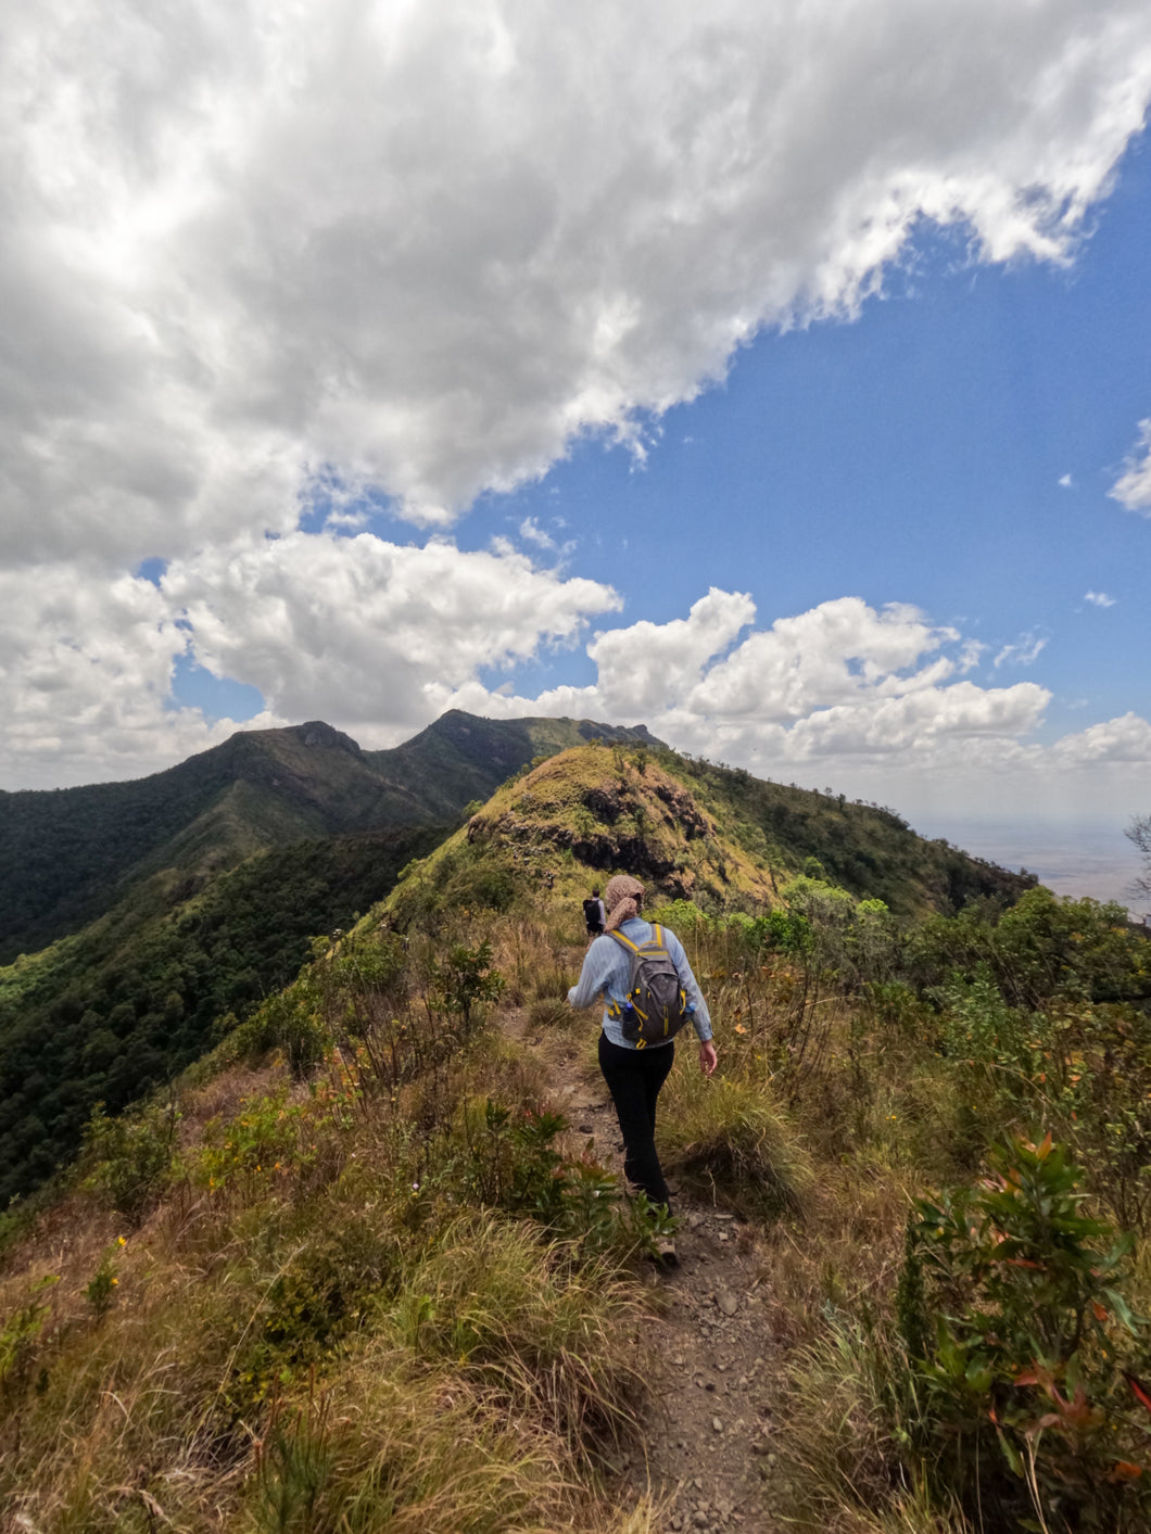
[[[635,1034],[629,1002],[635,948],[658,934],[681,988],[683,1020],[695,1028],[700,1042],[700,1069],[711,1075],[715,1069],[715,1045],[707,1003],[688,963],[683,943],[666,928],[654,928],[640,914],[643,885],[626,873],[615,874],[603,891],[606,905],[605,931],[583,956],[579,982],[568,991],[574,1008],[591,1006],[605,999],[603,1032],[600,1034],[600,1071],[608,1083],[615,1117],[623,1135],[623,1172],[628,1181],[646,1193],[652,1204],[663,1204],[671,1215],[671,1198],[655,1154],[655,1101],[675,1058],[675,1042],[651,1042],[628,1037]],[[618,936],[614,936],[618,934]],[[623,942],[620,942],[623,939]],[[629,1017],[631,1014],[631,1017]],[[672,1023],[672,1028],[677,1025]],[[675,1262],[675,1247],[661,1243],[660,1256]]]

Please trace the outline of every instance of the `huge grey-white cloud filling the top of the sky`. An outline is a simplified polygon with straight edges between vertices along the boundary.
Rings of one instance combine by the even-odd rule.
[[[43,0],[5,23],[9,557],[445,526],[850,314],[922,218],[1064,259],[1143,0]],[[909,67],[909,64],[912,64]],[[1122,483],[1122,482],[1120,482]]]

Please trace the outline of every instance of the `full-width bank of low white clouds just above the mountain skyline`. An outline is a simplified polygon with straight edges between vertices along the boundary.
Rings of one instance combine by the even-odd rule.
[[[233,721],[209,727],[167,700],[184,653],[261,690],[250,727],[327,718],[387,746],[448,707],[646,723],[681,750],[905,810],[942,798],[950,813],[1005,813],[1083,792],[1096,804],[1113,781],[1130,805],[1151,764],[1134,713],[1041,744],[1050,692],[971,681],[968,641],[910,606],[844,597],[757,629],[749,595],[712,589],[686,618],[597,634],[592,684],[525,696],[488,683],[491,664],[577,643],[618,607],[609,588],[525,555],[371,534],[239,542],[173,561],[160,589],[80,575],[58,566],[40,591],[11,577],[0,589],[12,785],[135,776],[224,739]],[[48,615],[35,630],[32,612]]]

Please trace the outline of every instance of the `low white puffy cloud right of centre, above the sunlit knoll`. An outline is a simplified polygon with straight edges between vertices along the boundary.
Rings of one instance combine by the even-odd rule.
[[[844,597],[738,640],[754,617],[749,597],[712,589],[686,620],[635,623],[589,644],[592,686],[534,700],[480,700],[470,687],[453,701],[506,715],[643,719],[683,750],[775,773],[1036,755],[1024,742],[1050,692],[1034,683],[948,680],[961,670],[964,641],[915,607],[876,611]]]

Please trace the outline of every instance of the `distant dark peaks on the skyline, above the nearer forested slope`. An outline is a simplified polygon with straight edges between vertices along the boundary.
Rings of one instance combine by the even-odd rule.
[[[0,963],[161,870],[206,877],[262,847],[451,821],[534,756],[594,736],[655,744],[643,727],[453,710],[393,750],[362,752],[315,721],[241,730],[132,782],[0,792]]]

